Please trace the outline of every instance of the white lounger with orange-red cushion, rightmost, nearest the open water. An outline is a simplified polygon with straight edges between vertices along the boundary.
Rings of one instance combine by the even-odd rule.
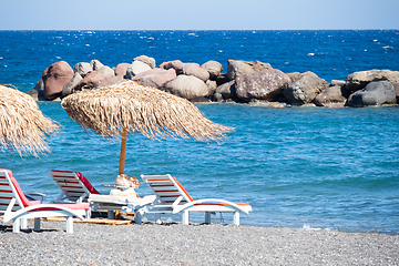
[[[182,223],[188,224],[190,212],[205,212],[205,223],[211,224],[211,213],[233,212],[233,223],[239,225],[239,213],[246,215],[252,211],[248,203],[232,203],[218,198],[194,201],[176,178],[166,175],[141,175],[141,178],[156,195],[153,204],[139,208],[135,212],[135,222],[141,224],[144,214],[182,213]]]

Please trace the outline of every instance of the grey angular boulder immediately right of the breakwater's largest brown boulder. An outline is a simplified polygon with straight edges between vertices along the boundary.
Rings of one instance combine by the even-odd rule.
[[[308,72],[283,90],[286,100],[294,105],[311,103],[318,93],[328,88],[327,81]]]

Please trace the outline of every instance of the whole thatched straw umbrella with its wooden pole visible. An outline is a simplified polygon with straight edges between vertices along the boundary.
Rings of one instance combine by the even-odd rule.
[[[127,133],[207,141],[231,130],[205,119],[187,100],[133,81],[75,92],[61,104],[86,132],[92,130],[105,139],[122,136],[119,174],[124,173]]]

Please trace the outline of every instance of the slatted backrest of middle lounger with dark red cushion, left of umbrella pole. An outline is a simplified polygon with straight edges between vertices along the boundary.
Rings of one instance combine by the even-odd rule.
[[[61,190],[53,203],[81,203],[86,202],[91,194],[100,194],[80,172],[54,170],[49,174]]]

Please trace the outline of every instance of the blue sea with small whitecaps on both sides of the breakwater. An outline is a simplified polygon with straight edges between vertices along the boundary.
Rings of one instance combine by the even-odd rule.
[[[285,73],[311,71],[330,82],[356,71],[399,70],[398,30],[306,31],[0,31],[0,83],[27,92],[44,69],[63,60],[115,66],[149,55],[181,60],[262,61]],[[79,171],[108,194],[117,174],[120,140],[85,133],[60,102],[38,102],[62,127],[39,158],[0,152],[24,192],[60,190],[48,171]],[[234,127],[219,142],[152,141],[129,135],[125,173],[171,174],[193,198],[247,202],[250,226],[399,234],[399,108],[325,109],[237,103],[196,104],[209,120]],[[140,195],[151,191],[144,182]],[[213,223],[233,215],[216,213]],[[180,221],[180,216],[165,216]],[[149,217],[151,221],[152,217]],[[203,222],[203,214],[191,221]]]

